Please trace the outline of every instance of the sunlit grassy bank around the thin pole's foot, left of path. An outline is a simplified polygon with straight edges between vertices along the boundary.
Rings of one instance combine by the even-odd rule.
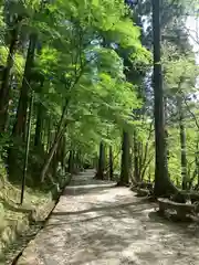
[[[24,202],[20,205],[20,186],[9,182],[6,173],[0,163],[0,261],[11,244],[30,229],[30,213],[35,219],[45,219],[53,206],[54,193],[57,194],[56,183],[51,183],[48,190],[25,187]],[[64,179],[62,176],[62,182]]]

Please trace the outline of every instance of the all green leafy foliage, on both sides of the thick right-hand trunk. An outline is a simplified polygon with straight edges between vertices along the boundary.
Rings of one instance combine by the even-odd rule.
[[[196,93],[198,66],[188,35],[182,29],[182,15],[189,8],[185,1],[170,4],[168,0],[163,1],[163,7],[168,12],[163,12],[161,15],[161,63],[169,105],[169,152],[175,153],[169,158],[169,171],[176,172],[172,178],[180,179],[179,109],[176,103],[177,96],[181,96],[186,128],[191,124],[191,128],[187,128],[187,157],[188,163],[192,165],[198,137],[192,114],[198,118],[198,112],[197,99],[190,97]],[[28,115],[30,91],[33,89],[30,179],[35,173],[40,180],[39,172],[59,134],[66,141],[60,144],[55,151],[53,159],[57,161],[51,161],[49,176],[54,174],[53,170],[57,168],[55,162],[67,163],[70,150],[82,153],[86,159],[94,158],[101,140],[106,146],[112,145],[114,150],[119,150],[124,129],[130,136],[132,153],[133,136],[136,132],[139,162],[143,168],[146,167],[142,169],[143,177],[154,177],[154,125],[150,125],[153,96],[147,80],[150,77],[153,59],[150,51],[143,45],[145,43],[150,46],[151,26],[149,24],[144,31],[140,18],[145,12],[150,22],[150,3],[140,1],[138,6],[138,9],[129,12],[122,0],[57,0],[45,3],[28,0],[11,1],[8,4],[8,14],[22,20],[13,25],[20,26],[19,44],[10,72],[13,78],[10,82],[11,103],[8,107],[7,131],[1,137],[1,153],[2,157],[7,156],[8,147],[15,142],[18,163],[23,165],[24,139],[13,138],[12,130],[15,121],[19,121],[15,113],[20,109],[21,87],[28,82],[28,95],[22,100],[24,113],[20,123],[24,123],[25,135],[28,123],[23,117]],[[2,9],[0,28],[4,36],[8,33],[7,23]],[[32,33],[36,34],[38,40],[34,60],[29,65],[30,73],[24,76],[28,40]],[[182,38],[185,43],[181,42]],[[7,44],[7,47],[2,43],[0,45],[2,65],[8,63],[9,41]],[[36,137],[39,146],[35,144]],[[64,149],[63,159],[59,157],[61,149]],[[192,172],[195,169],[191,167]],[[36,172],[32,172],[33,168]]]

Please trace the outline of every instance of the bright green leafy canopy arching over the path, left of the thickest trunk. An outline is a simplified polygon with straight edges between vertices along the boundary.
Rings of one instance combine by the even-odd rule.
[[[145,67],[150,61],[150,53],[140,43],[140,29],[132,21],[124,1],[13,1],[8,4],[7,13],[22,18],[20,24],[13,26],[20,25],[19,39],[23,44],[14,53],[11,70],[17,82],[10,94],[8,137],[19,118],[15,110],[27,60],[25,42],[32,33],[38,38],[39,50],[35,50],[31,77],[23,80],[29,83],[28,89],[34,91],[29,176],[32,167],[36,169],[35,174],[39,173],[59,126],[65,123],[66,150],[72,148],[96,156],[102,139],[107,145],[118,146],[123,128],[130,131],[136,125],[132,109],[140,108],[143,103],[137,99],[136,82],[127,82],[117,47],[127,52],[135,68]],[[0,46],[3,65],[7,64],[8,49],[9,43],[8,47]],[[23,100],[28,106],[29,98]],[[63,110],[64,106],[66,110]],[[40,132],[36,132],[40,109],[42,121]],[[34,147],[35,134],[39,134],[40,148]],[[8,149],[6,142],[14,142],[18,168],[21,169],[24,139],[2,139],[4,151]]]

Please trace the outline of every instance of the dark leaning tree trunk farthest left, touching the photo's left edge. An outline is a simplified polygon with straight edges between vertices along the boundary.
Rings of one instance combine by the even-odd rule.
[[[0,89],[0,132],[4,131],[7,118],[8,118],[8,108],[10,99],[10,76],[11,70],[14,62],[14,54],[17,51],[18,35],[20,30],[20,22],[17,23],[14,29],[11,31],[11,41],[9,47],[9,54],[7,57],[7,65],[2,74],[2,84]]]

